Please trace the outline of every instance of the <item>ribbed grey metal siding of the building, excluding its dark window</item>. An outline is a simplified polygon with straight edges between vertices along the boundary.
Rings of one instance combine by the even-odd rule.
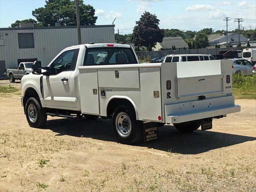
[[[18,33],[33,33],[35,48],[19,49]],[[0,60],[6,68],[16,67],[17,59],[38,58],[48,63],[64,48],[78,44],[76,28],[2,30],[4,46],[0,46]],[[5,34],[8,35],[5,35]],[[81,28],[82,43],[114,43],[114,27]]]

